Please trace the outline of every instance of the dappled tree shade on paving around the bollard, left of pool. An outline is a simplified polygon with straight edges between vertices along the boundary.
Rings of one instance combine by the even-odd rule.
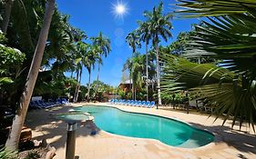
[[[68,110],[72,108],[74,107],[71,105],[64,105],[48,110],[29,111],[26,115],[26,126],[36,131],[36,137],[35,134],[32,134],[33,139],[38,141],[46,139],[47,142],[55,146],[56,149],[61,147],[65,148],[67,141],[67,123],[57,119],[56,114],[67,113]],[[38,135],[37,132],[41,135]],[[90,133],[90,127],[77,124],[77,137],[91,135]],[[51,139],[51,142],[49,142],[49,139]]]

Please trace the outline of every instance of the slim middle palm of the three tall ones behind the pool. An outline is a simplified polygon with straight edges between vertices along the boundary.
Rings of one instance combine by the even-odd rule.
[[[146,45],[146,91],[147,91],[147,101],[148,101],[148,43],[151,38],[150,34],[150,24],[148,22],[138,21],[138,34],[140,35],[140,40]]]

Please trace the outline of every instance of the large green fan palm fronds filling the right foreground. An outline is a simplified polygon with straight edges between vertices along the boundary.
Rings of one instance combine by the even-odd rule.
[[[175,65],[170,63],[176,62],[176,67],[179,69],[172,70],[179,70],[180,75],[174,81],[169,83],[165,81],[166,86],[169,84],[167,87],[170,91],[178,84],[190,84],[191,91],[200,93],[201,98],[215,108],[217,118],[220,115],[225,116],[223,124],[232,116],[232,125],[239,121],[241,126],[246,121],[253,127],[256,118],[254,36],[256,2],[251,0],[227,0],[225,3],[220,0],[180,2],[179,6],[186,7],[185,10],[177,13],[181,16],[214,16],[208,17],[208,21],[202,21],[203,25],[195,26],[196,36],[192,37],[192,43],[185,50],[186,57],[210,56],[218,59],[219,64],[199,65],[188,61],[179,64],[177,61],[180,60],[177,58],[164,57],[166,68]],[[171,76],[173,72],[169,71],[166,75]],[[193,84],[196,79],[200,84]]]

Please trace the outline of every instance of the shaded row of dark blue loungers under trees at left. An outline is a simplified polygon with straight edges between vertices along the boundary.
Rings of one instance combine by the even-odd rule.
[[[51,108],[54,106],[58,106],[61,104],[67,104],[67,99],[66,98],[58,98],[56,100],[56,102],[54,102],[53,100],[49,100],[48,102],[44,102],[43,100],[36,100],[36,101],[31,101],[29,103],[29,108],[31,109],[47,109],[47,108]]]

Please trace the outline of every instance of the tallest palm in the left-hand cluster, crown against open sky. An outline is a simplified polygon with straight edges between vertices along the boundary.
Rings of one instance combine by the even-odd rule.
[[[100,71],[100,65],[102,65],[102,55],[105,55],[105,57],[107,57],[107,55],[109,54],[109,52],[111,51],[111,47],[110,47],[110,40],[108,39],[108,37],[105,37],[102,32],[99,32],[99,35],[97,37],[92,37],[91,38],[93,40],[93,45],[98,45],[100,47],[100,52],[99,52],[99,58],[97,61],[97,83],[99,80],[99,71]],[[97,84],[98,86],[98,84]]]

